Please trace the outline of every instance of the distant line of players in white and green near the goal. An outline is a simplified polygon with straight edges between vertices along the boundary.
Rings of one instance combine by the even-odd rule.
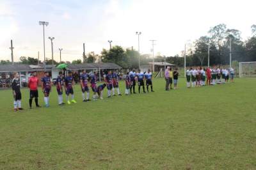
[[[234,68],[221,68],[220,66],[216,68],[188,68],[186,70],[187,87],[199,87],[206,85],[216,85],[228,82],[234,82]]]

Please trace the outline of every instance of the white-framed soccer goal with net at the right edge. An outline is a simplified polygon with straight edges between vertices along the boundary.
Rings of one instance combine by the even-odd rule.
[[[239,77],[256,77],[256,61],[239,63]]]

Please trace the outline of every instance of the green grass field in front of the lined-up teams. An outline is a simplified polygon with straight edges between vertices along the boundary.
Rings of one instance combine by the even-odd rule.
[[[22,89],[20,112],[1,90],[0,169],[256,169],[256,79],[179,83],[87,103],[77,86],[77,104],[64,107],[54,89],[50,108],[31,110]]]

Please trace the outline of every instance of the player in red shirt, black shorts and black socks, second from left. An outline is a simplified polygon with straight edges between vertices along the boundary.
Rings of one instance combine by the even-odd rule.
[[[29,108],[32,109],[32,101],[35,98],[36,107],[41,107],[38,105],[38,78],[36,77],[36,72],[32,73],[32,76],[29,78],[28,81],[28,88],[30,89],[29,92]]]

